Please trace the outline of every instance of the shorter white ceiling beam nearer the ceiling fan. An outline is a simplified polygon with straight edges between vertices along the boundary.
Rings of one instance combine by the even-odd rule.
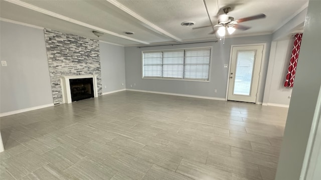
[[[124,6],[123,4],[119,3],[118,1],[116,0],[106,0],[108,1],[109,3],[113,4],[114,6],[116,6],[117,8],[119,8],[120,10],[126,12],[127,14],[131,15],[132,17],[134,17],[137,21],[139,21],[143,26],[147,27],[148,29],[158,33],[158,34],[161,34],[161,35],[164,35],[164,36],[167,36],[167,37],[170,37],[178,42],[182,42],[182,39],[171,34],[170,32],[162,29],[161,27],[158,27],[157,25],[153,24],[152,22],[148,21],[147,19],[145,19],[144,17],[138,15],[137,13],[135,13],[134,11],[130,10],[128,7]]]

